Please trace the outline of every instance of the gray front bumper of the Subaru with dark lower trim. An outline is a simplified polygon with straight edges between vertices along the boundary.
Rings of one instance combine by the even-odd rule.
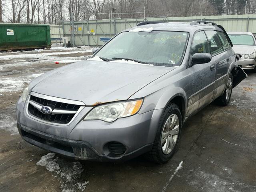
[[[162,110],[152,110],[108,123],[82,120],[92,107],[85,107],[68,126],[46,124],[29,117],[24,103],[18,100],[18,130],[24,140],[64,156],[97,161],[128,160],[152,148]],[[113,154],[108,143],[125,146],[123,154]]]

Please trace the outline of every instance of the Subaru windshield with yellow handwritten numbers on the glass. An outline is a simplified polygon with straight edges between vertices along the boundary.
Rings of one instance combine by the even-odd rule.
[[[108,60],[123,58],[157,66],[179,66],[187,38],[187,32],[122,32],[95,56]]]

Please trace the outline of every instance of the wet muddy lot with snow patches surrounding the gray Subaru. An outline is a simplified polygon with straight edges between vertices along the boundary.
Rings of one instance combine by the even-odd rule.
[[[228,106],[212,103],[184,124],[180,147],[166,164],[142,157],[122,163],[77,161],[22,140],[15,119],[22,89],[36,76],[90,54],[0,54],[1,192],[256,192],[255,73],[248,72],[234,88]]]

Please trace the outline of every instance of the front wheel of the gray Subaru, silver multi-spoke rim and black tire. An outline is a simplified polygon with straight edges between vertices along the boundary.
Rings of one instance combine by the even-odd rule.
[[[166,129],[168,125],[170,125],[170,128],[173,127],[173,129],[168,131]],[[180,109],[176,104],[170,103],[168,104],[168,106],[166,106],[162,113],[153,147],[150,152],[145,154],[146,158],[152,162],[156,162],[159,164],[165,163],[170,160],[170,158],[172,158],[177,150],[178,142],[181,135],[181,128],[182,116],[180,113]],[[166,137],[164,137],[164,135],[166,135]],[[162,137],[164,141],[163,143]],[[167,145],[168,149],[166,149]]]

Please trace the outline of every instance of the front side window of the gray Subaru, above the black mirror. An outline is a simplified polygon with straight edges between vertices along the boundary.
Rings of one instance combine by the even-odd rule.
[[[208,40],[203,31],[197,32],[193,39],[191,54],[210,53]]]

